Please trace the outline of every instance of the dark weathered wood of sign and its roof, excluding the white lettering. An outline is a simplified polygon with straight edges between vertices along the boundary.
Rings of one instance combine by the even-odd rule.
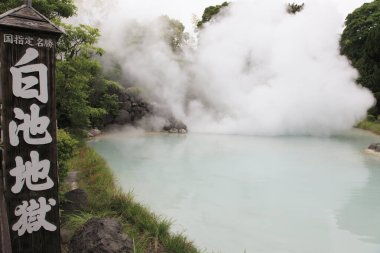
[[[0,203],[1,197],[4,196],[5,208],[2,206],[1,219],[5,217],[4,211],[6,209],[7,221],[9,228],[2,226],[2,230],[9,232],[9,238],[3,239],[6,242],[10,240],[13,253],[59,253],[60,251],[60,220],[59,220],[59,201],[58,201],[58,166],[57,166],[57,143],[56,143],[56,90],[55,90],[55,45],[59,38],[61,31],[53,26],[46,20],[41,20],[38,14],[32,14],[34,9],[21,9],[9,16],[3,16],[0,19],[0,94],[2,102],[2,140],[3,140],[3,167],[2,177],[4,184],[0,186]],[[12,16],[14,15],[14,16]],[[29,19],[26,19],[30,17]],[[4,35],[33,37],[42,40],[52,40],[54,45],[52,47],[24,45],[20,43],[5,43]],[[31,64],[42,63],[48,68],[48,97],[47,103],[41,103],[38,99],[24,99],[15,97],[12,90],[12,74],[10,68],[21,59],[25,54],[27,48],[33,47],[38,53],[39,57]],[[36,73],[29,73],[39,78]],[[40,107],[40,116],[47,116],[50,119],[50,124],[47,131],[53,138],[53,141],[44,145],[30,145],[22,138],[22,133],[19,134],[20,144],[16,147],[10,144],[9,138],[9,123],[15,120],[13,109],[20,108],[25,113],[30,114],[30,106],[37,104]],[[18,124],[21,123],[18,121]],[[46,191],[31,191],[27,187],[23,187],[20,193],[13,193],[10,189],[15,184],[15,177],[10,175],[10,170],[16,167],[15,157],[20,156],[24,162],[30,161],[30,152],[38,151],[40,161],[50,161],[49,177],[53,180],[54,186]],[[26,232],[24,235],[19,236],[17,231],[11,229],[20,217],[17,217],[14,210],[17,206],[22,204],[22,201],[29,201],[31,199],[38,199],[45,197],[46,199],[54,199],[57,204],[52,207],[52,210],[46,213],[46,220],[57,227],[56,231],[47,231],[44,228],[29,234]],[[3,224],[2,224],[3,225]]]

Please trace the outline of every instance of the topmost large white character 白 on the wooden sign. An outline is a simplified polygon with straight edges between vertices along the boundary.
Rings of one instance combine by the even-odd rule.
[[[42,103],[48,101],[48,81],[47,67],[44,64],[26,65],[39,56],[38,51],[34,48],[28,48],[25,55],[16,63],[15,67],[11,67],[13,82],[13,94],[21,98],[36,98]],[[25,66],[22,66],[25,65]],[[22,67],[21,67],[22,66]],[[29,75],[23,77],[23,74],[38,73],[39,78]],[[35,86],[38,85],[38,88]]]

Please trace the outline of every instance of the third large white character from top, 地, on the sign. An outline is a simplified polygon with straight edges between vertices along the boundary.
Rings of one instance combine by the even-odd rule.
[[[24,184],[31,191],[44,191],[54,186],[53,180],[49,177],[50,161],[40,161],[40,154],[37,151],[30,152],[31,161],[25,162],[22,157],[16,157],[16,167],[9,174],[16,177],[16,183],[11,188],[13,193],[20,193]],[[44,182],[39,182],[44,180]]]

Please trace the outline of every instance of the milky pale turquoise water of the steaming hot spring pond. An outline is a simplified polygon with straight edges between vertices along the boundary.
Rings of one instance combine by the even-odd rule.
[[[379,253],[379,136],[109,134],[90,142],[123,189],[223,253]]]

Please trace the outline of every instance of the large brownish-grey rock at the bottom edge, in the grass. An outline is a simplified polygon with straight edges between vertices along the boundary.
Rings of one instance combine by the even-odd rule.
[[[75,232],[70,241],[71,253],[132,253],[133,242],[122,233],[116,219],[90,219]]]

